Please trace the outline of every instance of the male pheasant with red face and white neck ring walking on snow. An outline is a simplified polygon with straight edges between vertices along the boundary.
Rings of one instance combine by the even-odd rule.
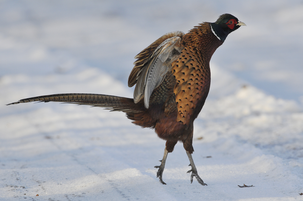
[[[200,113],[208,95],[211,73],[209,61],[227,35],[245,25],[233,15],[223,14],[214,23],[203,22],[187,34],[174,31],[153,42],[135,59],[128,86],[135,85],[134,98],[103,94],[53,94],[22,99],[32,101],[66,102],[126,113],[132,123],[155,129],[166,140],[163,159],[157,177],[162,184],[162,174],[168,153],[178,141],[190,161],[191,183],[195,176],[198,183],[207,185],[198,175],[191,154],[193,122]],[[8,105],[11,105],[8,104]]]

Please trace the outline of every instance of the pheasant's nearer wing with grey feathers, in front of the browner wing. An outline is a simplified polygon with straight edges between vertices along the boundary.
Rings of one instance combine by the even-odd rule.
[[[138,81],[134,90],[135,103],[144,97],[145,108],[149,107],[149,98],[154,89],[164,80],[171,67],[171,58],[175,54],[180,54],[182,49],[181,38],[178,36],[166,39],[155,49],[150,56],[151,60],[138,73]]]

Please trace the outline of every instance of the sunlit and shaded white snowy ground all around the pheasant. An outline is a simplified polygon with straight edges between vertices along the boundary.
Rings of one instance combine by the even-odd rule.
[[[0,11],[0,200],[303,200],[302,2],[2,1]],[[165,141],[122,112],[5,105],[56,93],[132,97],[138,52],[223,13],[248,26],[215,52],[195,120],[193,159],[208,186],[190,184],[180,143],[162,185],[153,167]]]

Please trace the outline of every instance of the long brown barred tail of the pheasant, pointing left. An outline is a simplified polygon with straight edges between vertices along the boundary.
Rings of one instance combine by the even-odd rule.
[[[28,103],[28,102],[65,102],[79,105],[90,105],[93,107],[108,107],[111,111],[122,111],[126,113],[136,113],[142,111],[142,106],[134,103],[134,99],[109,96],[104,94],[52,94],[46,96],[37,96],[25,98],[18,102],[7,105]],[[144,110],[144,109],[143,109]]]

